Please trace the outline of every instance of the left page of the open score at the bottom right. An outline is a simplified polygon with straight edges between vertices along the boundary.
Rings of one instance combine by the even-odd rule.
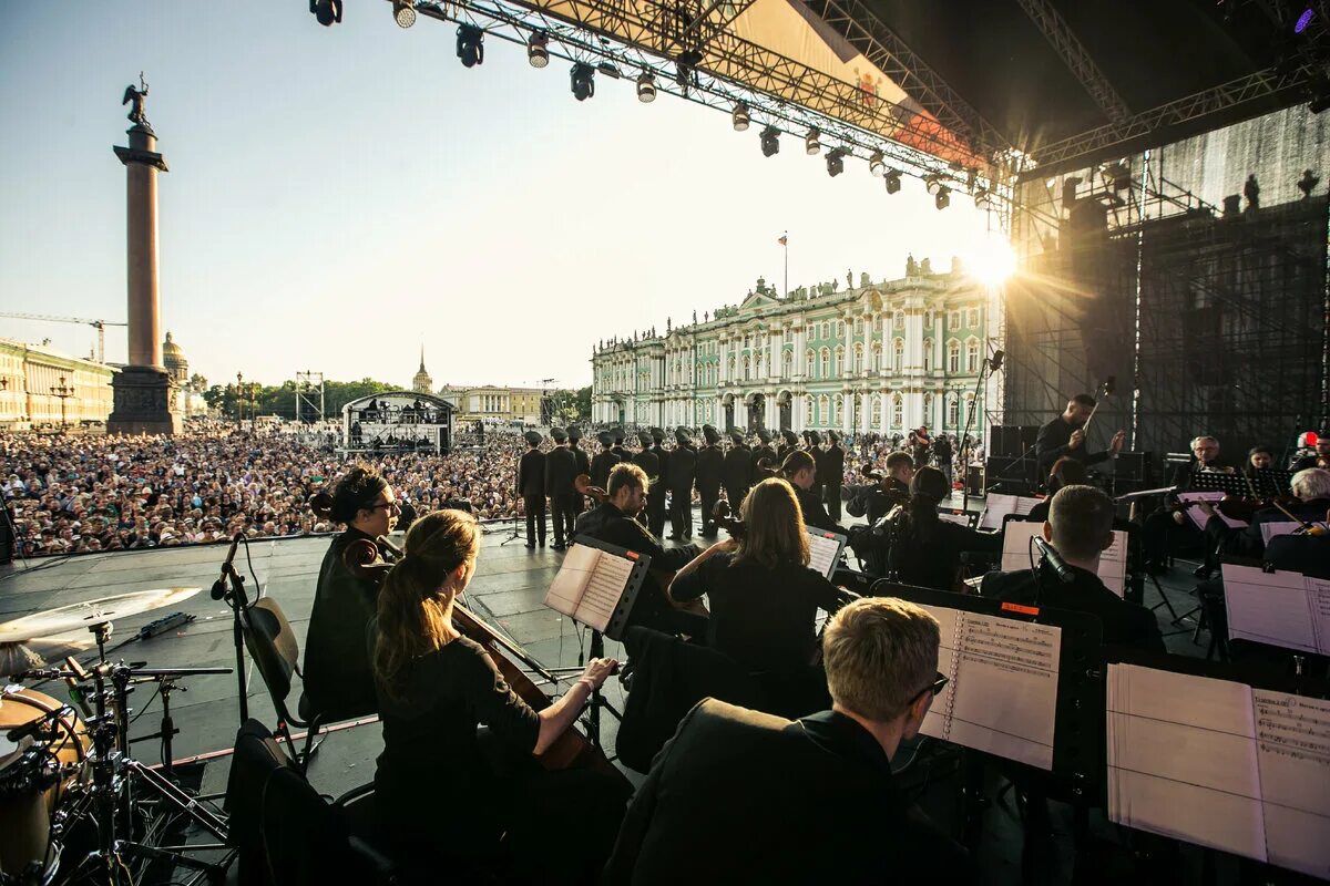
[[[1252,689],[1109,664],[1108,817],[1265,861]]]

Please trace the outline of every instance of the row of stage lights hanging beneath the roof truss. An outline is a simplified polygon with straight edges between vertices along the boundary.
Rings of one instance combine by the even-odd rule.
[[[310,0],[310,12],[315,15],[319,24],[331,25],[335,21],[342,20],[342,1],[340,0]],[[410,28],[416,21],[415,0],[392,0],[392,17],[396,20],[398,25],[402,28]],[[458,27],[458,58],[467,68],[475,68],[483,64],[485,60],[485,32],[476,25],[463,24]],[[535,32],[527,41],[527,61],[531,62],[532,68],[545,68],[549,65],[549,36],[541,32]],[[694,61],[701,61],[697,58]],[[605,72],[608,76],[618,78],[618,72],[610,65],[601,65],[600,70]],[[584,62],[573,62],[569,70],[569,89],[573,93],[573,98],[577,101],[587,101],[596,94],[596,70],[592,65]],[[688,77],[692,73],[689,66],[689,60],[680,60],[680,82],[688,82]],[[656,101],[656,77],[649,72],[642,72],[637,77],[637,100],[642,104],[650,104]],[[730,113],[730,121],[734,125],[734,132],[746,132],[751,124],[751,116],[749,113],[747,105],[738,102],[734,105],[734,110]],[[781,153],[781,135],[783,133],[775,126],[766,126],[762,130],[759,139],[762,146],[763,157],[773,157]],[[807,135],[803,137],[803,150],[810,157],[822,153],[822,133],[817,128],[809,130]],[[833,147],[827,151],[827,175],[835,178],[845,171],[845,158],[850,155],[850,151],[845,147]],[[880,150],[872,151],[868,157],[868,173],[875,178],[883,179],[886,183],[887,194],[895,194],[900,190],[900,177],[902,173],[898,169],[888,169],[886,163],[886,157]],[[924,177],[924,186],[928,193],[932,194],[932,203],[939,210],[944,210],[951,205],[951,187],[946,183],[947,178],[938,173]],[[982,206],[990,194],[984,187],[971,187],[975,194],[975,205]]]

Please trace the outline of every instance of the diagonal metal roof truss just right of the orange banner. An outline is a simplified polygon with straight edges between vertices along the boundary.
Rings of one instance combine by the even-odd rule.
[[[807,0],[806,5],[874,66],[906,90],[943,126],[964,138],[975,153],[1011,147],[1007,138],[979,116],[946,80],[934,72],[862,0]]]

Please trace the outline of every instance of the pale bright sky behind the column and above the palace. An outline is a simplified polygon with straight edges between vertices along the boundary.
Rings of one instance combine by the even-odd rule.
[[[826,174],[786,134],[630,78],[577,102],[568,65],[487,43],[466,69],[454,29],[398,28],[346,0],[0,0],[0,311],[124,320],[125,86],[145,72],[158,182],[161,323],[190,371],[281,384],[301,371],[436,385],[591,383],[601,339],[906,255],[986,248],[963,194],[915,178],[887,195],[863,161]],[[994,223],[996,223],[994,221]],[[92,328],[0,317],[0,336],[86,356]],[[125,329],[106,359],[125,360]]]

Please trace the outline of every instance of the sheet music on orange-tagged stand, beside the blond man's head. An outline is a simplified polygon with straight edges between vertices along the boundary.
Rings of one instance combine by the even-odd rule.
[[[924,606],[942,626],[950,677],[922,732],[1040,769],[1053,768],[1061,628]]]

